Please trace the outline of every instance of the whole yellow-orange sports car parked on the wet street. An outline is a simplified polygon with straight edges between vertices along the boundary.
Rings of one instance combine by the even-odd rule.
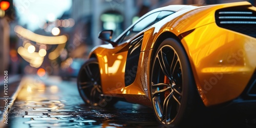
[[[248,2],[166,6],[114,40],[112,33],[99,33],[109,44],[95,47],[79,71],[79,93],[89,104],[124,99],[175,126],[200,102],[256,102],[256,8]]]

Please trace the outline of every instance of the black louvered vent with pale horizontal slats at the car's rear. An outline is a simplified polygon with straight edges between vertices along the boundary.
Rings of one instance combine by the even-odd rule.
[[[256,12],[246,6],[217,10],[215,19],[219,27],[256,38]]]

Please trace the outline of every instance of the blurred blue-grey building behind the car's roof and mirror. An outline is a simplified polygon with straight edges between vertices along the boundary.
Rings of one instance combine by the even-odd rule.
[[[72,39],[73,43],[81,40],[86,44],[97,46],[102,44],[98,39],[101,30],[114,30],[115,38],[129,27],[136,17],[155,8],[177,4],[206,5],[239,1],[241,0],[73,0],[70,16],[75,20],[76,25]],[[248,2],[256,5],[255,0]],[[74,38],[75,36],[80,38]]]

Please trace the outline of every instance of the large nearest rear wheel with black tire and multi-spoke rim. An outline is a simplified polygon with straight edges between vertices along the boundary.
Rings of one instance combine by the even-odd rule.
[[[151,98],[156,118],[166,127],[180,126],[189,120],[199,100],[188,57],[180,42],[167,38],[152,60]]]

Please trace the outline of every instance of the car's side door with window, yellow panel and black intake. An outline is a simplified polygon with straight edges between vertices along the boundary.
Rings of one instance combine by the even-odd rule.
[[[111,79],[111,84],[109,84],[108,89],[104,89],[104,92],[120,94],[123,91],[121,88],[124,88],[124,86],[127,87],[133,83],[136,78],[141,52],[143,40],[142,31],[158,22],[159,14],[161,14],[161,11],[145,16],[133,27],[127,29],[125,33],[117,39],[116,43],[118,46],[112,49],[112,52],[109,52],[111,55],[108,56],[111,58],[108,59],[107,66],[108,78]],[[170,13],[168,13],[168,15],[169,14]]]

